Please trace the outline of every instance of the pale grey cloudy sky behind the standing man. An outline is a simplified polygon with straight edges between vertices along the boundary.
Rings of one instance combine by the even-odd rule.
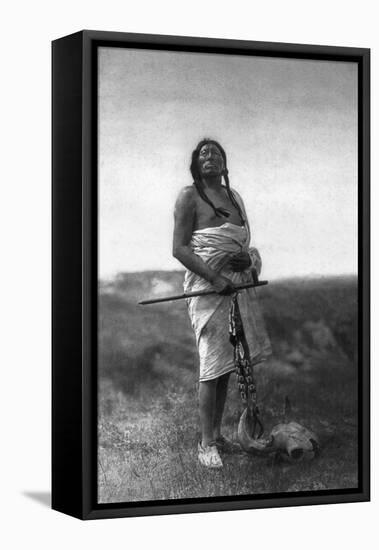
[[[191,153],[221,143],[262,276],[357,273],[357,64],[99,49],[99,277],[181,269]]]

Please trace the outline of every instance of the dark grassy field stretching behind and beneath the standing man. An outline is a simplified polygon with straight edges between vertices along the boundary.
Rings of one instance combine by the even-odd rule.
[[[357,486],[356,280],[275,282],[259,289],[274,355],[256,373],[266,432],[291,417],[319,435],[321,455],[288,465],[242,451],[224,468],[197,461],[197,356],[183,302],[138,299],[180,291],[181,272],[118,277],[100,288],[100,502],[211,497]],[[224,433],[236,439],[232,375]]]

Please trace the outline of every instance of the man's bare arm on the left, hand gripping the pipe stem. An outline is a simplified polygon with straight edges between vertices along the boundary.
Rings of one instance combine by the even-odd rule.
[[[233,292],[233,283],[211,269],[191,248],[191,237],[196,220],[196,199],[193,187],[185,187],[175,204],[173,256],[187,269],[210,282],[216,292]]]

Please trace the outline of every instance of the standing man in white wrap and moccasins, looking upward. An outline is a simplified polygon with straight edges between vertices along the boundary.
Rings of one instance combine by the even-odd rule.
[[[234,370],[229,341],[229,309],[234,285],[251,282],[261,261],[249,248],[250,229],[242,199],[229,185],[226,154],[219,143],[204,139],[192,153],[193,185],[184,187],[175,205],[173,255],[186,268],[185,292],[213,289],[216,294],[187,300],[200,357],[199,461],[222,467],[218,450],[227,445],[221,421],[228,380]],[[223,179],[225,184],[223,184]],[[270,343],[255,289],[238,296],[252,363],[265,360]]]

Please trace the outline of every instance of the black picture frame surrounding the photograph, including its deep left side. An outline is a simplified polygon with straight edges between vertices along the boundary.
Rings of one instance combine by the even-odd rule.
[[[98,504],[97,48],[264,55],[358,63],[359,487]],[[52,43],[52,508],[81,519],[301,506],[370,499],[370,50],[81,31]]]

